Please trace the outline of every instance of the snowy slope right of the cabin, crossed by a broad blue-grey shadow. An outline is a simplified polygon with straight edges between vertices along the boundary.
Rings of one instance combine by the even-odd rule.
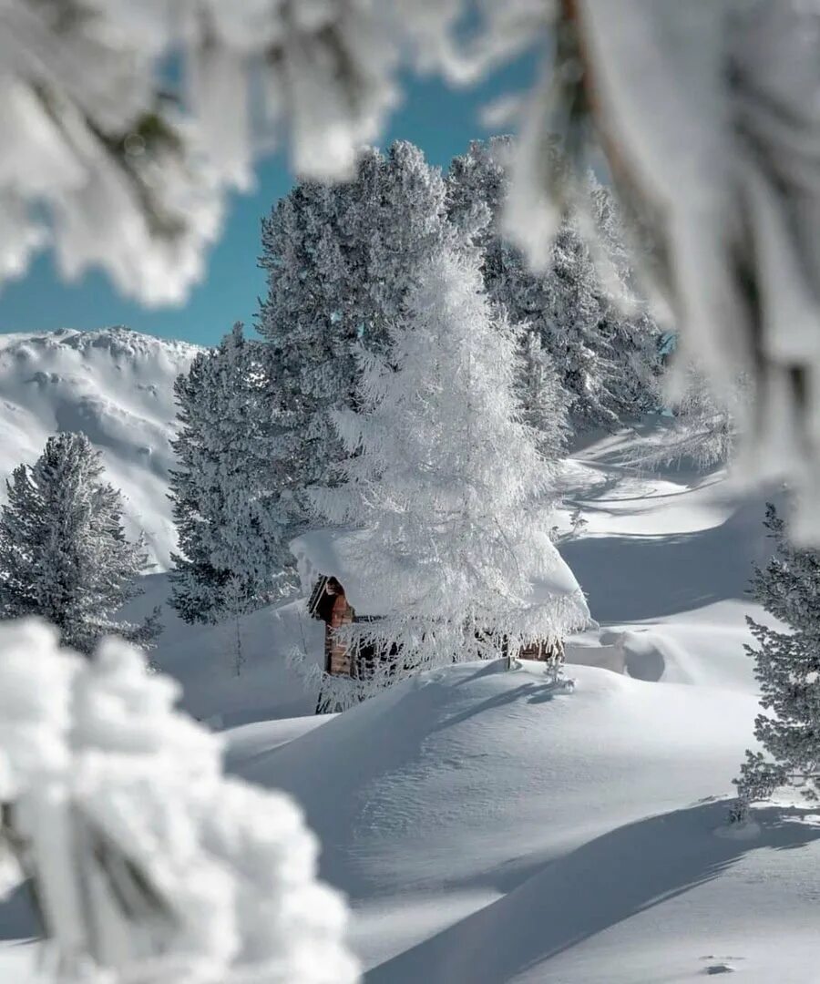
[[[754,693],[745,619],[771,620],[747,588],[771,551],[765,502],[781,494],[743,494],[723,470],[647,474],[623,464],[633,443],[604,437],[564,471],[565,509],[586,525],[562,553],[601,626],[577,643],[620,648],[640,679]]]

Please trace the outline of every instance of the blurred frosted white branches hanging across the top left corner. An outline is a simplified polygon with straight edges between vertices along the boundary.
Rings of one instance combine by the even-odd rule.
[[[50,240],[65,277],[183,300],[263,143],[285,130],[297,171],[339,177],[376,136],[386,20],[367,0],[3,3],[0,277]]]

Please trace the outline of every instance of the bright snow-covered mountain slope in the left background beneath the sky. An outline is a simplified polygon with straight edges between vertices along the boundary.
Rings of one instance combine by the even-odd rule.
[[[130,531],[145,530],[151,559],[166,568],[173,381],[197,351],[125,328],[0,335],[0,478],[32,463],[50,434],[82,431],[123,493]]]

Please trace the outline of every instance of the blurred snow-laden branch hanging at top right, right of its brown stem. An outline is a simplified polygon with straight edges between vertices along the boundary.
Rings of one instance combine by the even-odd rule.
[[[582,93],[564,143],[595,131],[649,240],[647,273],[679,333],[678,365],[699,366],[733,403],[736,469],[786,480],[791,533],[817,542],[820,4],[562,7],[570,54],[556,75]]]

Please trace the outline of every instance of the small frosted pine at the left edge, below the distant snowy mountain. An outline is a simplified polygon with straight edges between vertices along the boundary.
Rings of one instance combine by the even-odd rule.
[[[148,555],[142,536],[126,539],[120,493],[102,471],[84,434],[58,434],[15,468],[0,509],[0,618],[38,615],[85,653],[109,634],[151,646],[160,631],[158,608],[141,625],[115,617],[142,593]]]

